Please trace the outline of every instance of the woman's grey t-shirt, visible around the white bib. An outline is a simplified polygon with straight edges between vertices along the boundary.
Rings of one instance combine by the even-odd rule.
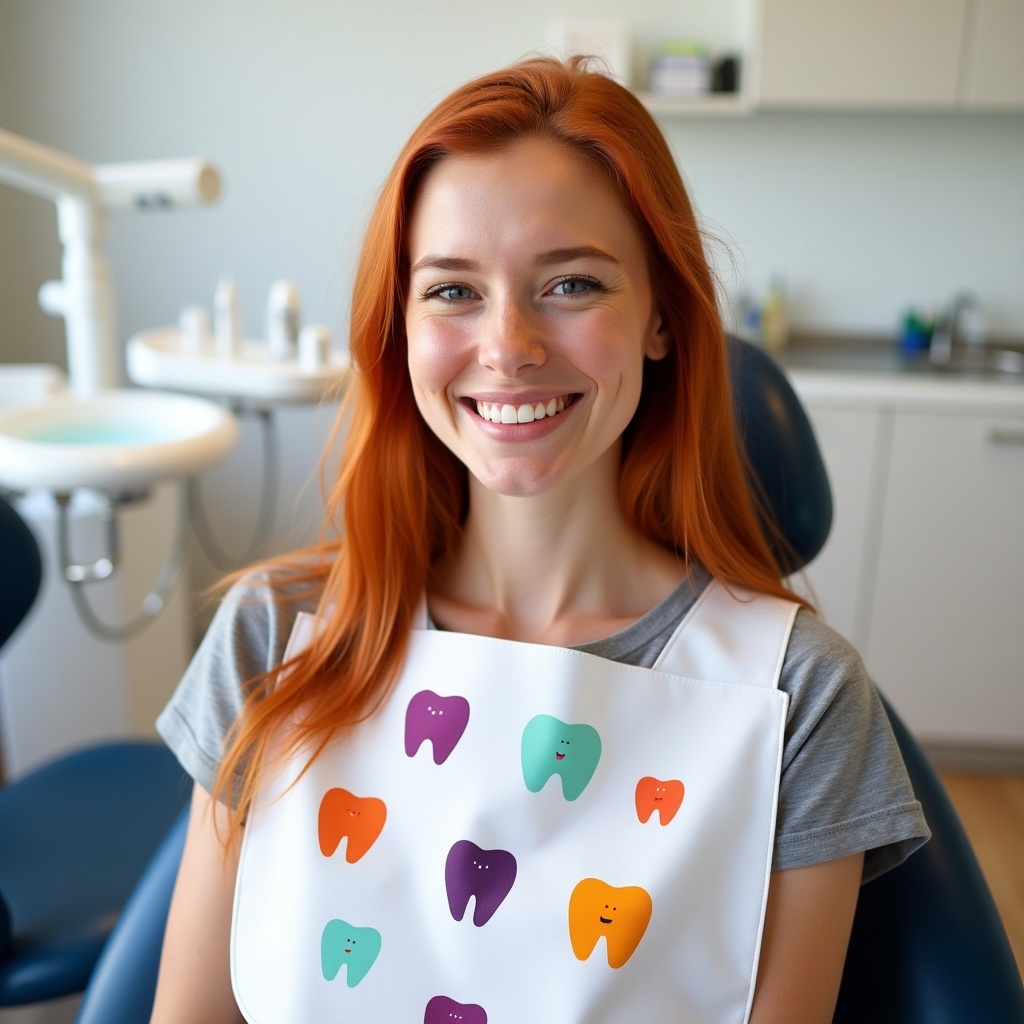
[[[577,649],[653,666],[708,584],[694,572],[620,633]],[[281,664],[295,616],[316,596],[273,601],[265,584],[242,584],[221,603],[157,729],[209,791],[246,684]],[[861,850],[864,881],[895,867],[929,836],[899,749],[853,647],[816,615],[797,614],[779,680],[790,694],[776,818],[774,869]]]

